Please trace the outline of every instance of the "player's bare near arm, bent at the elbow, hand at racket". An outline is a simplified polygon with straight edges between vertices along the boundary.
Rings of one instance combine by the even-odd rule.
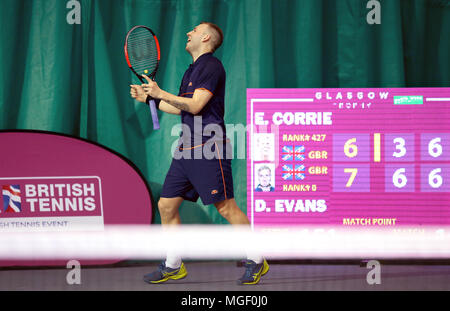
[[[192,114],[198,114],[203,107],[209,102],[213,94],[205,89],[196,89],[192,98],[176,96],[164,90],[161,90],[155,81],[144,75],[148,84],[143,84],[142,88],[144,92],[152,96],[153,98],[161,99],[161,102],[165,102],[168,105],[183,111],[190,112]]]

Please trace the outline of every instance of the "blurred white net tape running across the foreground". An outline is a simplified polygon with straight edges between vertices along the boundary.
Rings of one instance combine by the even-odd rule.
[[[103,231],[3,232],[0,259],[450,258],[450,228],[108,226]]]

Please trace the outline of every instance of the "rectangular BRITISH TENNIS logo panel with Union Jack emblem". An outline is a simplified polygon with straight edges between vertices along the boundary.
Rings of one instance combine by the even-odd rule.
[[[0,177],[0,230],[102,230],[97,176]]]

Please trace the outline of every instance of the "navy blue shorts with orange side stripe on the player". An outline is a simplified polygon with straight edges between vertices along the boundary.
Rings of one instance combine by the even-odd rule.
[[[204,205],[234,197],[231,157],[225,156],[222,143],[207,146],[210,155],[199,158],[205,145],[183,149],[186,156],[174,156],[161,192],[163,198],[182,197],[196,202],[200,197]],[[226,151],[229,151],[229,144]],[[197,153],[197,154],[196,154]],[[187,156],[190,154],[189,156]],[[211,158],[211,154],[215,157]]]

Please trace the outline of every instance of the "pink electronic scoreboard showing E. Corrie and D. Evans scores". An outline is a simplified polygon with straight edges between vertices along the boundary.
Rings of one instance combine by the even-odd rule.
[[[450,88],[248,89],[255,226],[450,224]]]

